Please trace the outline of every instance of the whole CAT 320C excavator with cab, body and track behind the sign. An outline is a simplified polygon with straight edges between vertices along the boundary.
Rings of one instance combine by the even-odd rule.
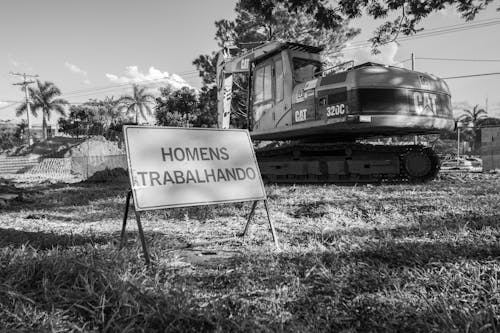
[[[366,143],[374,137],[452,131],[451,96],[432,74],[372,62],[323,68],[320,47],[268,42],[218,53],[218,126],[229,128],[235,77],[262,177],[273,183],[423,183],[438,155],[419,144]],[[240,80],[241,81],[241,80]],[[241,87],[240,87],[241,88]],[[241,111],[239,111],[241,112]],[[363,143],[365,142],[365,143]]]

